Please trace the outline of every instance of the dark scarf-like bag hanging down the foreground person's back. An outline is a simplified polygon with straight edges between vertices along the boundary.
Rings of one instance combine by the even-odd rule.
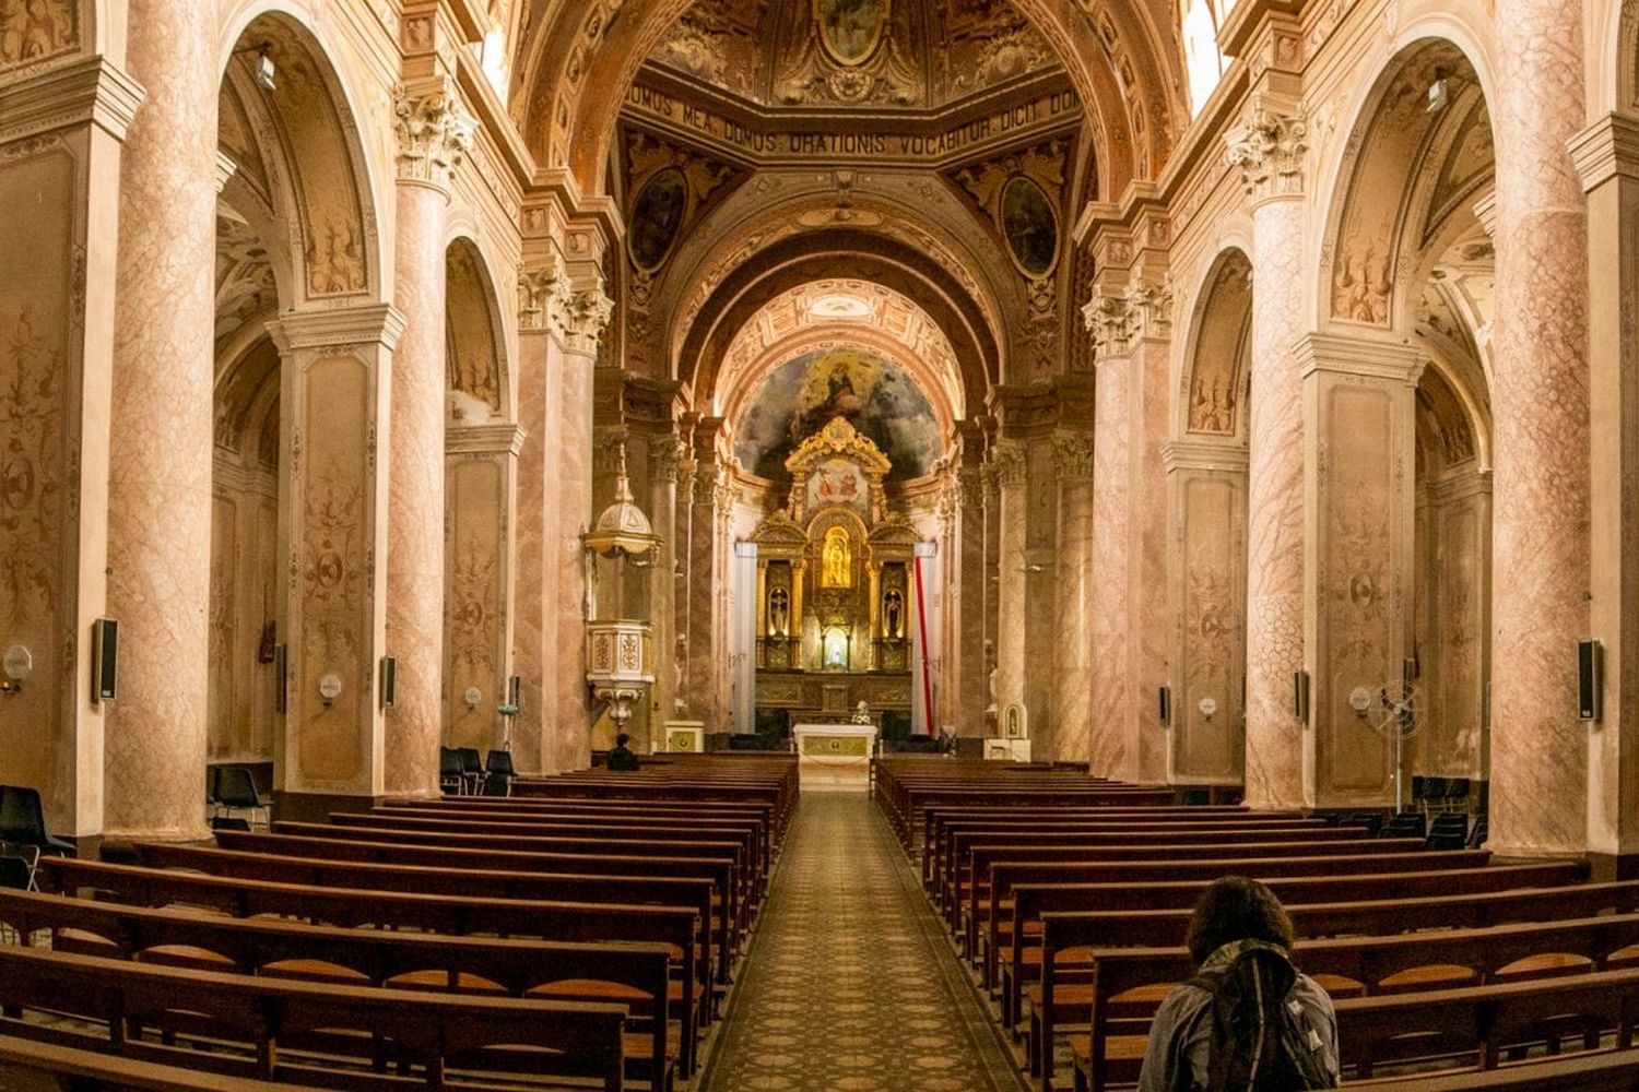
[[[1274,945],[1208,959],[1193,979],[1211,994],[1206,1092],[1334,1089],[1337,1079],[1295,1000],[1298,972]]]

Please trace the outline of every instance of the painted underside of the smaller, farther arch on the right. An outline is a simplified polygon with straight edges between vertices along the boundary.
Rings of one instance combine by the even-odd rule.
[[[1252,259],[1228,246],[1208,267],[1192,311],[1175,434],[1246,442],[1252,357]]]

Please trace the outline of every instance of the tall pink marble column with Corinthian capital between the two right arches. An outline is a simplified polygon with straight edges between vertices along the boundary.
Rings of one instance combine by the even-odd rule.
[[[1303,154],[1290,106],[1254,98],[1226,134],[1252,206],[1252,396],[1247,468],[1246,802],[1305,802],[1303,661]]]

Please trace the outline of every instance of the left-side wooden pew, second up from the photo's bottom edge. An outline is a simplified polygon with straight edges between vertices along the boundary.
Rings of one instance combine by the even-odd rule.
[[[0,1030],[8,1035],[257,1081],[402,1089],[402,1079],[374,1072],[387,1048],[392,1058],[421,1066],[426,1087],[459,1087],[454,1066],[479,1063],[488,1069],[488,1051],[506,1046],[505,1061],[523,1063],[536,1074],[595,1077],[605,1092],[624,1087],[624,1005],[259,979],[0,948],[0,1010],[5,1013]],[[75,1030],[62,1022],[44,1027],[25,1020],[23,1010],[64,1013],[103,1030]],[[208,1022],[198,1013],[210,1013]],[[218,1049],[185,1051],[133,1033],[138,1027],[175,1023],[188,1028],[203,1023]],[[328,1033],[323,1045],[329,1058],[298,1058],[285,1049],[287,1043],[305,1043],[320,1031]],[[223,1041],[239,1049],[229,1054],[220,1049]],[[347,1058],[352,1066],[336,1066],[334,1056]],[[485,1077],[485,1087],[541,1087],[528,1072],[516,1079]]]

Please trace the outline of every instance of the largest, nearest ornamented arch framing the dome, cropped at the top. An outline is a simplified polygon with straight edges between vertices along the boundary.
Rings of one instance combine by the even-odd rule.
[[[626,95],[662,31],[692,3],[564,2],[534,21],[521,43],[516,98],[539,162],[567,167],[587,193],[603,192],[615,131],[606,106]],[[1172,28],[1139,7],[1090,10],[1072,0],[1016,0],[1016,7],[1052,44],[1095,123],[1098,200],[1116,200],[1128,182],[1155,177],[1190,118]]]

